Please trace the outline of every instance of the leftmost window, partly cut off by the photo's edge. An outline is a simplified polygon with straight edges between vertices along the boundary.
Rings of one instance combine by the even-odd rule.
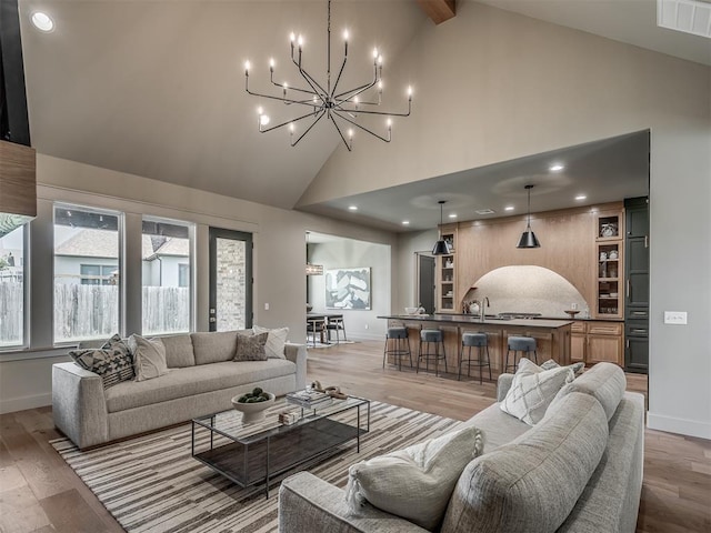
[[[24,344],[24,231],[0,237],[0,350]]]

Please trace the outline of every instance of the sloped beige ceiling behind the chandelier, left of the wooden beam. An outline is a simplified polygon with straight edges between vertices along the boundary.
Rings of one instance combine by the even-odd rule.
[[[34,10],[53,32],[31,27]],[[244,92],[247,59],[256,88],[268,84],[270,57],[296,82],[291,31],[307,39],[307,68],[324,74],[326,1],[20,0],[20,16],[40,153],[289,209],[338,145],[327,123],[297,148],[288,131],[260,134],[256,110],[267,104]],[[336,58],[346,26],[352,36],[343,82],[372,76],[373,44],[387,73],[425,22],[412,0],[333,2]],[[294,115],[279,107],[276,118]]]

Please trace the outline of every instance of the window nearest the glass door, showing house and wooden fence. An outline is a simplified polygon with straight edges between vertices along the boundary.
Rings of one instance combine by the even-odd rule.
[[[190,264],[192,224],[143,219],[142,331],[187,333],[192,320]]]

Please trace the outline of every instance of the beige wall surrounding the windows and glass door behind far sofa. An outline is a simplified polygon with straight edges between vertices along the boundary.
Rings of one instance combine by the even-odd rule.
[[[208,228],[254,235],[254,323],[288,325],[289,338],[306,341],[307,228],[394,247],[394,235],[323,217],[270,208],[184,187],[38,154],[38,218],[31,223],[31,346],[0,353],[0,412],[51,403],[51,364],[68,360],[52,346],[52,202],[116,209],[126,213],[128,234],[140,234],[143,214],[194,222],[197,239],[197,330],[208,329]],[[138,244],[137,244],[138,243]],[[136,249],[138,245],[138,249]],[[124,292],[140,294],[140,239],[127,239]],[[390,268],[390,255],[387,265]],[[138,258],[132,261],[131,258]],[[132,271],[131,264],[137,266]],[[388,274],[389,276],[389,274]],[[379,284],[374,301],[390,302],[391,288]],[[140,298],[128,298],[122,333],[140,329]],[[269,311],[264,304],[269,303]],[[389,303],[388,303],[389,304]]]

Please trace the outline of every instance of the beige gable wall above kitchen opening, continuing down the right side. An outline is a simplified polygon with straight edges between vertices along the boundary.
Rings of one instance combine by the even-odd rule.
[[[649,128],[649,424],[711,439],[711,69],[472,2],[398,64],[412,117],[390,144],[337,150],[300,203]]]

